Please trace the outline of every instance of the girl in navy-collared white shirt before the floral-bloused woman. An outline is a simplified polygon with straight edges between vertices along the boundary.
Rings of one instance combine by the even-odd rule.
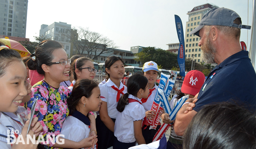
[[[78,79],[73,86],[72,94],[67,99],[69,106],[69,116],[63,122],[61,134],[66,139],[72,141],[81,141],[84,138],[93,136],[95,129],[90,130],[90,119],[88,117],[90,111],[100,110],[102,103],[100,99],[100,88],[94,80]],[[94,117],[95,119],[95,117]],[[94,120],[95,121],[95,120]],[[97,138],[93,141],[94,148]]]

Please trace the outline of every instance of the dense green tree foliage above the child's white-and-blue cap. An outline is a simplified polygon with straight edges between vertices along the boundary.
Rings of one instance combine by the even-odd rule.
[[[146,47],[140,53],[135,54],[135,60],[142,62],[154,61],[159,66],[161,65],[163,69],[170,70],[173,67],[178,67],[177,54],[170,53],[169,51],[155,48]]]

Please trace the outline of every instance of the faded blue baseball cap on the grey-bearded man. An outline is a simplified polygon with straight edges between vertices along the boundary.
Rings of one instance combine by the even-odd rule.
[[[233,23],[236,18],[240,18],[240,16],[231,9],[227,9],[224,7],[211,9],[206,14],[204,14],[204,16],[202,17],[199,23],[199,26],[197,26],[197,28],[192,30],[190,34],[195,34],[199,36],[199,31],[201,30],[201,28],[204,27],[204,25],[222,25],[222,26],[235,27],[239,29],[241,28],[249,29],[249,30],[251,29],[251,26],[249,25]]]

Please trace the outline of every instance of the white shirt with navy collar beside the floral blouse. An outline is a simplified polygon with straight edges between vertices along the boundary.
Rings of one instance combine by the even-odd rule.
[[[79,142],[89,137],[90,120],[79,111],[74,111],[72,116],[68,116],[62,125],[62,131],[65,139]],[[96,145],[95,145],[96,149]]]

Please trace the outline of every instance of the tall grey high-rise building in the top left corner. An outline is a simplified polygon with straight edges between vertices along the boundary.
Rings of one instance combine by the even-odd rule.
[[[0,35],[26,37],[28,0],[0,0]]]

